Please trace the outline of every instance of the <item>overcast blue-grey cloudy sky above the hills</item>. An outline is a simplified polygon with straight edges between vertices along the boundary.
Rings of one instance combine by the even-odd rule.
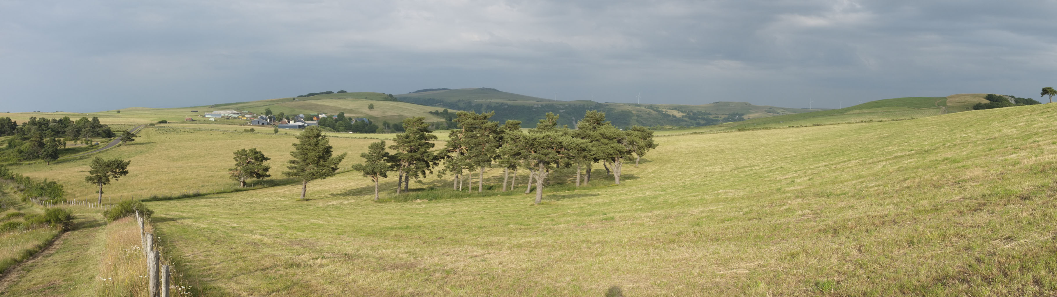
[[[0,0],[0,112],[428,88],[791,108],[1038,99],[1057,87],[1054,11],[1053,0]]]

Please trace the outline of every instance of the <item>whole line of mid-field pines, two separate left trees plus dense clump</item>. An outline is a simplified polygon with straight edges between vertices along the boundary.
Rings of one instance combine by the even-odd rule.
[[[528,188],[533,180],[536,186],[536,204],[542,201],[545,181],[551,172],[559,168],[576,168],[576,185],[592,180],[591,169],[601,163],[607,172],[620,184],[625,162],[634,161],[635,166],[649,150],[657,147],[653,142],[653,131],[634,126],[622,130],[606,120],[606,114],[588,111],[577,122],[577,129],[558,126],[558,115],[548,113],[533,129],[522,129],[520,120],[489,120],[493,112],[475,113],[460,111],[455,122],[459,129],[449,133],[444,148],[434,150],[437,135],[431,134],[430,124],[425,117],[412,117],[403,122],[404,133],[393,138],[392,145],[385,141],[372,143],[368,151],[360,154],[365,162],[352,165],[352,169],[374,182],[374,200],[377,201],[378,184],[390,173],[396,175],[396,193],[407,191],[411,180],[422,180],[429,174],[452,177],[452,189],[462,190],[464,182],[472,185],[477,172],[478,191],[484,190],[484,172],[488,168],[503,169],[503,191],[514,189],[517,171],[528,171]],[[333,175],[346,154],[333,155],[327,135],[321,129],[311,126],[299,134],[294,144],[283,175],[301,182],[301,199],[305,199],[308,183]],[[389,150],[392,150],[390,152]],[[229,169],[231,179],[245,186],[248,179],[271,177],[270,159],[256,149],[241,149],[235,152],[236,166]],[[509,187],[507,183],[509,182]],[[471,189],[470,189],[471,190]]]

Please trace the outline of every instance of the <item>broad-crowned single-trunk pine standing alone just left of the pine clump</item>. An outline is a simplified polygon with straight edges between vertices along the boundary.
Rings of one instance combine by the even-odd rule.
[[[346,154],[333,155],[333,147],[318,126],[304,128],[304,131],[297,135],[297,140],[300,142],[294,144],[294,151],[290,152],[294,159],[289,161],[291,165],[286,165],[290,171],[282,171],[282,174],[301,181],[301,200],[307,200],[304,193],[308,191],[309,182],[334,175],[337,165],[345,160]]]

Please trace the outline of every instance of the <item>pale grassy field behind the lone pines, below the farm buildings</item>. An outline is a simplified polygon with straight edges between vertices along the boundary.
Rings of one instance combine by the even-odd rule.
[[[201,126],[198,126],[201,127]],[[223,125],[209,125],[223,127]],[[271,131],[268,131],[271,132]],[[227,168],[233,167],[233,152],[242,148],[257,148],[272,157],[272,178],[254,181],[249,185],[262,187],[289,182],[281,171],[291,159],[291,144],[295,134],[261,134],[202,129],[146,127],[135,142],[77,159],[63,159],[45,165],[33,162],[14,165],[11,169],[40,181],[58,181],[66,187],[68,200],[95,201],[94,185],[84,181],[91,159],[119,157],[131,162],[130,173],[104,187],[104,203],[120,199],[142,199],[150,196],[178,196],[182,193],[208,193],[230,191],[238,183],[228,179]],[[344,134],[349,135],[349,134]],[[341,136],[344,136],[341,135]],[[383,134],[384,135],[384,134]],[[359,152],[377,140],[332,137],[335,154],[350,152],[341,170],[359,162]]]

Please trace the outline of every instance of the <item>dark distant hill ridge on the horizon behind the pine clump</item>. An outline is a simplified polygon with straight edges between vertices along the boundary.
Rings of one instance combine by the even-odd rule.
[[[706,126],[746,118],[767,117],[819,109],[794,109],[757,106],[747,103],[719,101],[708,105],[652,105],[562,101],[503,92],[492,88],[425,89],[395,95],[401,101],[444,109],[495,111],[494,120],[517,119],[522,127],[535,127],[548,112],[559,115],[559,125],[575,125],[588,110],[606,112],[606,118],[619,127]]]

